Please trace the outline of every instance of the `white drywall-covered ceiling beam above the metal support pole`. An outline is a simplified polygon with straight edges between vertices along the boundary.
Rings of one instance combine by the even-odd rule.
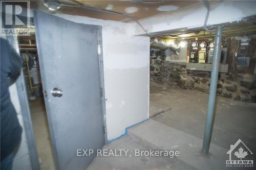
[[[240,21],[244,17],[256,15],[256,1],[210,1],[210,6],[208,26]],[[140,19],[140,23],[148,33],[180,28],[199,28],[203,27],[206,13],[205,5],[202,5]],[[145,34],[140,26],[136,26],[136,28],[138,34]]]

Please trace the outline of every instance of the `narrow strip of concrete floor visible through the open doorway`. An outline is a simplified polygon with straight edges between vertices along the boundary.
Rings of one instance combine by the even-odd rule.
[[[41,170],[54,170],[53,152],[44,98],[29,101],[31,120]]]

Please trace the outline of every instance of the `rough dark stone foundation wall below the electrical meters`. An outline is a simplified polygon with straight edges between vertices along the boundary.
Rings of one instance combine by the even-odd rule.
[[[150,79],[169,86],[209,92],[210,72],[186,70],[186,63],[165,61],[165,50],[151,50]],[[233,100],[256,103],[256,76],[230,73],[219,75],[217,95]]]

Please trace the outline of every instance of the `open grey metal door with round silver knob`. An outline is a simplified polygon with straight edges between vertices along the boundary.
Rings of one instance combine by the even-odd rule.
[[[91,156],[78,149],[104,144],[99,71],[100,26],[34,11],[47,117],[57,169],[85,169]]]

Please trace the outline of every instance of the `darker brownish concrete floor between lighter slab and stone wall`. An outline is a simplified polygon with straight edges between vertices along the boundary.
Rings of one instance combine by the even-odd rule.
[[[203,139],[208,97],[209,94],[198,90],[166,87],[151,82],[151,108],[171,108],[152,119]],[[211,142],[229,150],[230,144],[241,139],[252,152],[256,151],[256,104],[233,101],[220,96],[217,96],[216,102]]]

